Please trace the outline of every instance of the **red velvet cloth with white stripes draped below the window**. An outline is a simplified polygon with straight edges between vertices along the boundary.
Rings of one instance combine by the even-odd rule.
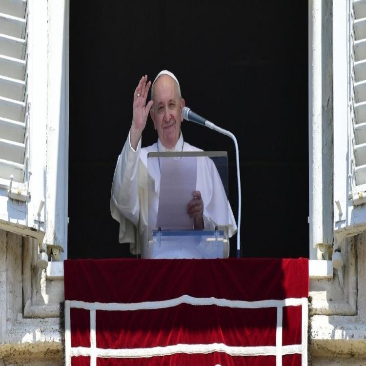
[[[307,360],[307,259],[68,260],[64,286],[66,365]]]

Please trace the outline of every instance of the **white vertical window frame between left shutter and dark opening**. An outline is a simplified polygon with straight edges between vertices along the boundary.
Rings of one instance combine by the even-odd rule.
[[[67,259],[69,0],[48,1],[47,225],[45,242]],[[59,253],[60,254],[60,253]]]

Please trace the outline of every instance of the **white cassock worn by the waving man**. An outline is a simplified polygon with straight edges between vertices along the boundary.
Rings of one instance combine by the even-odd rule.
[[[119,242],[130,243],[132,254],[140,253],[141,245],[148,245],[148,207],[150,222],[152,221],[151,216],[156,217],[158,212],[160,181],[158,159],[154,159],[154,163],[149,163],[149,174],[147,173],[147,154],[158,152],[158,144],[160,152],[203,151],[183,142],[182,133],[172,150],[166,150],[160,140],[151,146],[142,148],[140,139],[135,151],[131,147],[128,135],[114,172],[110,210],[112,217],[120,223]],[[209,158],[198,159],[197,164],[196,190],[201,192],[203,200],[204,228],[227,225],[228,236],[231,237],[236,233],[237,226],[215,164]],[[155,189],[150,189],[148,193],[147,187],[149,183],[151,185],[151,182],[154,182]],[[228,255],[229,244],[226,242],[224,257],[228,257]],[[170,253],[169,258],[175,257],[174,253]],[[195,257],[194,254],[187,253],[187,258]]]

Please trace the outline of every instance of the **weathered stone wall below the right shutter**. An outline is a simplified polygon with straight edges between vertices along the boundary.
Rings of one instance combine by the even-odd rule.
[[[366,365],[366,234],[342,247],[344,285],[310,280],[313,365]]]

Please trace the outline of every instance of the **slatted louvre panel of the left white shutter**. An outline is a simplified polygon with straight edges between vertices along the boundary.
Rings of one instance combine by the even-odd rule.
[[[26,5],[0,0],[0,184],[20,201],[28,198],[30,176]]]

